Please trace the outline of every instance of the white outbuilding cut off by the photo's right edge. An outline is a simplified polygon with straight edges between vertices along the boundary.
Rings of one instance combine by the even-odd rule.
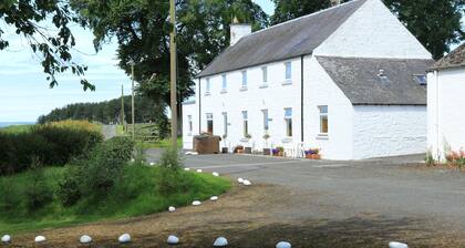
[[[465,44],[427,74],[427,143],[434,159],[465,149]]]

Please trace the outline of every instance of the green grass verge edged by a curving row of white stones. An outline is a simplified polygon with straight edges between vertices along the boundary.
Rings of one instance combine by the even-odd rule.
[[[64,173],[63,167],[43,168],[49,186],[56,190],[58,179]],[[125,217],[147,215],[164,211],[169,206],[189,205],[194,199],[204,200],[213,195],[227,192],[231,184],[228,179],[206,174],[180,172],[180,178],[187,190],[172,195],[158,194],[159,168],[148,166],[126,166],[124,180],[127,194],[136,195],[131,199],[121,200],[116,196],[108,196],[96,206],[75,205],[63,207],[54,198],[43,209],[33,214],[28,213],[24,198],[25,185],[30,183],[31,172],[21,173],[11,177],[0,177],[0,234],[19,234],[43,228],[56,228],[74,224],[91,223],[106,219],[121,219]],[[10,190],[8,192],[8,188]],[[136,194],[134,194],[136,193]],[[6,210],[4,197],[17,200],[13,209]]]

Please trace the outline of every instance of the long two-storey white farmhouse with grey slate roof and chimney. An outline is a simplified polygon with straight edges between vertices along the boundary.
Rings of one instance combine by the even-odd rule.
[[[231,45],[198,75],[195,102],[184,104],[184,147],[210,132],[226,134],[221,146],[230,149],[303,143],[327,159],[424,153],[423,82],[433,62],[381,0],[255,33],[232,24]]]

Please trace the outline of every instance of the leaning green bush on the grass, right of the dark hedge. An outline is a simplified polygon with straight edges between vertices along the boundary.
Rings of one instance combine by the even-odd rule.
[[[134,142],[128,137],[113,137],[99,144],[89,155],[69,167],[59,185],[58,195],[63,206],[72,206],[85,197],[90,203],[101,202],[121,182],[124,166],[131,159]]]

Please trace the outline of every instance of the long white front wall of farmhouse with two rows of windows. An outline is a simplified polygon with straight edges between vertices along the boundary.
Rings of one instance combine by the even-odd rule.
[[[286,81],[285,62],[292,63],[292,80]],[[221,75],[210,76],[210,92],[206,94],[207,78],[202,79],[202,131],[207,131],[206,114],[214,115],[214,134],[223,136],[223,113],[228,114],[228,137],[221,146],[232,148],[236,145],[251,146],[261,149],[265,146],[262,136],[262,110],[267,108],[271,118],[268,134],[268,146],[283,142],[300,141],[300,58],[266,64],[268,68],[268,86],[264,87],[260,66],[247,70],[247,90],[241,90],[241,71],[232,71],[227,75],[227,91],[221,92]],[[292,107],[293,135],[286,137],[285,107]],[[242,111],[248,112],[248,130],[252,138],[244,140]]]

